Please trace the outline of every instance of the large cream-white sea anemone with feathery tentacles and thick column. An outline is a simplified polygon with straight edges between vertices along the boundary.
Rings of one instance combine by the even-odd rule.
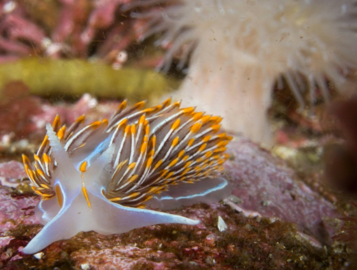
[[[256,142],[271,142],[267,110],[283,78],[301,107],[304,90],[329,97],[357,66],[357,5],[353,0],[147,0],[165,3],[139,14],[151,18],[143,37],[163,32],[167,70],[178,52],[189,71],[177,95],[185,105],[222,115],[223,126]],[[317,92],[316,90],[320,91]]]

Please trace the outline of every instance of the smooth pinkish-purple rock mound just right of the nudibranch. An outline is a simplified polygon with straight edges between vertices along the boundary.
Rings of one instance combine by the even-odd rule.
[[[231,177],[232,194],[239,207],[294,222],[299,229],[322,242],[334,234],[327,220],[341,217],[336,207],[312,191],[282,159],[257,144],[238,138],[230,142],[230,159],[224,164]]]

